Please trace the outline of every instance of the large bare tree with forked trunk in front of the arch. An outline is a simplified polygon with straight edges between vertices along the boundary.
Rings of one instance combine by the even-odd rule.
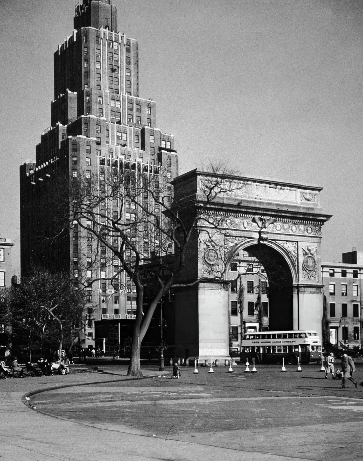
[[[109,167],[101,164],[97,174],[88,171],[66,179],[66,187],[60,187],[69,190],[69,199],[63,203],[57,197],[53,199],[58,200],[53,205],[58,217],[52,217],[58,221],[58,235],[75,225],[92,235],[92,242],[79,242],[79,246],[88,243],[89,247],[92,243],[88,274],[79,271],[79,282],[90,287],[101,279],[115,291],[122,291],[126,276],[135,287],[136,319],[128,369],[132,376],[142,375],[141,343],[156,306],[169,290],[211,280],[228,283],[227,264],[193,280],[185,281],[182,275],[186,260],[196,256],[191,243],[198,242],[202,223],[209,226],[209,241],[224,247],[220,220],[212,219],[207,209],[220,197],[232,196],[243,187],[224,165],[211,164],[197,192],[175,197],[160,167],[153,165],[150,169],[142,171],[140,164],[113,160]],[[144,288],[150,285],[150,279],[156,290],[144,308]]]

